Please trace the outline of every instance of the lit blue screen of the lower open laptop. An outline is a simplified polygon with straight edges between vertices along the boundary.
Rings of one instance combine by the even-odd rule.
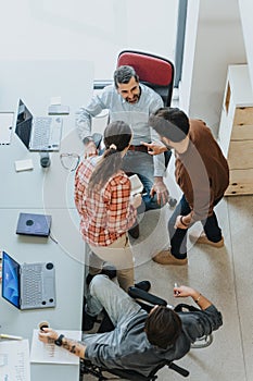
[[[20,265],[2,253],[2,297],[20,308]]]

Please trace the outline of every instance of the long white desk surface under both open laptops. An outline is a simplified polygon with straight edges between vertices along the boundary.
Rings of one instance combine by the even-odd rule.
[[[92,66],[85,61],[0,62],[0,110],[15,111],[21,97],[36,114],[46,114],[50,97],[61,96],[71,107],[63,116],[61,152],[81,153],[74,113],[92,94]],[[51,153],[51,167],[42,169],[39,155],[29,152],[12,134],[10,146],[0,146],[0,248],[18,262],[53,261],[56,273],[56,307],[18,311],[0,297],[0,332],[29,339],[41,320],[63,330],[80,330],[84,292],[85,245],[74,205],[74,172]],[[16,173],[14,161],[31,158],[34,170]],[[21,211],[52,214],[51,238],[15,234]],[[31,364],[31,381],[78,380],[78,366]]]

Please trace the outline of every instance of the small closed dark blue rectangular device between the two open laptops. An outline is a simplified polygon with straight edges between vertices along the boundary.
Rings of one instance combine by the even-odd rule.
[[[20,213],[16,234],[48,237],[51,222],[49,214]]]

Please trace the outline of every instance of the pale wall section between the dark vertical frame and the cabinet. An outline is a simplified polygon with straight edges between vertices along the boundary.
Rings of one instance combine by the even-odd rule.
[[[189,0],[179,106],[217,134],[228,64],[245,63],[237,0]]]

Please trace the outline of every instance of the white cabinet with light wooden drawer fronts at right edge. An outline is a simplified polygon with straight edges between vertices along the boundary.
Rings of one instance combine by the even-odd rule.
[[[246,64],[228,66],[218,143],[230,170],[225,195],[252,195],[253,91]]]

